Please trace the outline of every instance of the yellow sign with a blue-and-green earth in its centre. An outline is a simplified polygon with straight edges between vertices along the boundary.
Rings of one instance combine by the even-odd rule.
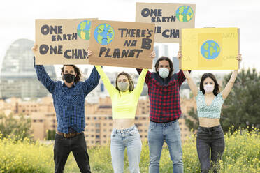
[[[236,70],[238,28],[182,29],[182,70]]]

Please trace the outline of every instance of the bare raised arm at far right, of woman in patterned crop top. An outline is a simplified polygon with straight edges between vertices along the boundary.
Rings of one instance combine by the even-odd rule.
[[[240,67],[240,62],[242,60],[242,57],[241,57],[241,54],[238,54],[238,57],[237,57],[237,60],[238,60],[238,68]],[[236,80],[236,77],[238,76],[238,70],[233,70],[233,73],[230,77],[230,80],[229,82],[226,84],[226,87],[223,89],[222,91],[222,98],[223,99],[226,99],[227,96],[229,96],[229,93],[233,87],[233,84],[235,83],[235,80]]]

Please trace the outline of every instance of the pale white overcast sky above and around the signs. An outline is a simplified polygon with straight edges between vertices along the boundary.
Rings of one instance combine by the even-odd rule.
[[[15,40],[20,38],[35,40],[36,19],[97,17],[99,20],[135,22],[136,2],[193,3],[196,4],[196,28],[240,28],[240,53],[243,57],[241,65],[244,68],[260,70],[260,1],[258,0],[4,0],[1,1],[0,6],[0,62],[10,44]],[[176,56],[178,44],[171,44],[171,47],[173,47],[172,56]],[[90,67],[90,65],[87,66]],[[57,68],[57,66],[55,67]],[[108,67],[104,69],[122,70],[124,68]],[[224,72],[229,72],[229,70],[224,70]]]

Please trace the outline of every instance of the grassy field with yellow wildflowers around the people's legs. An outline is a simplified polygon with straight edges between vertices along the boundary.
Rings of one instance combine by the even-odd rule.
[[[219,172],[224,173],[257,173],[260,172],[260,135],[259,130],[254,128],[251,133],[240,129],[225,134],[226,148],[223,160],[220,161]],[[200,172],[200,164],[196,153],[196,137],[192,135],[182,144],[184,170],[187,173]],[[96,146],[88,149],[90,166],[93,173],[113,172],[110,158],[110,146]],[[124,158],[125,172],[128,161],[127,153]],[[140,172],[148,172],[149,149],[147,142],[143,142],[140,156]],[[15,142],[12,139],[0,140],[0,172],[54,172],[53,145],[40,142]],[[173,166],[164,145],[160,160],[160,172],[173,172]],[[68,157],[66,173],[80,172],[73,158]]]

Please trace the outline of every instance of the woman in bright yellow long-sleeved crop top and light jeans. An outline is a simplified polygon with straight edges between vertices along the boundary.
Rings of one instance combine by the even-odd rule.
[[[88,56],[91,56],[92,52],[90,50],[87,52]],[[152,52],[150,57],[155,57],[155,53]],[[113,170],[118,173],[124,172],[124,150],[127,148],[129,170],[131,173],[139,173],[142,142],[138,129],[134,125],[134,119],[138,98],[143,91],[143,84],[148,70],[142,70],[136,88],[134,88],[133,80],[128,73],[122,72],[117,75],[114,87],[101,66],[96,66],[96,70],[99,72],[112,100],[113,130],[110,150]]]

